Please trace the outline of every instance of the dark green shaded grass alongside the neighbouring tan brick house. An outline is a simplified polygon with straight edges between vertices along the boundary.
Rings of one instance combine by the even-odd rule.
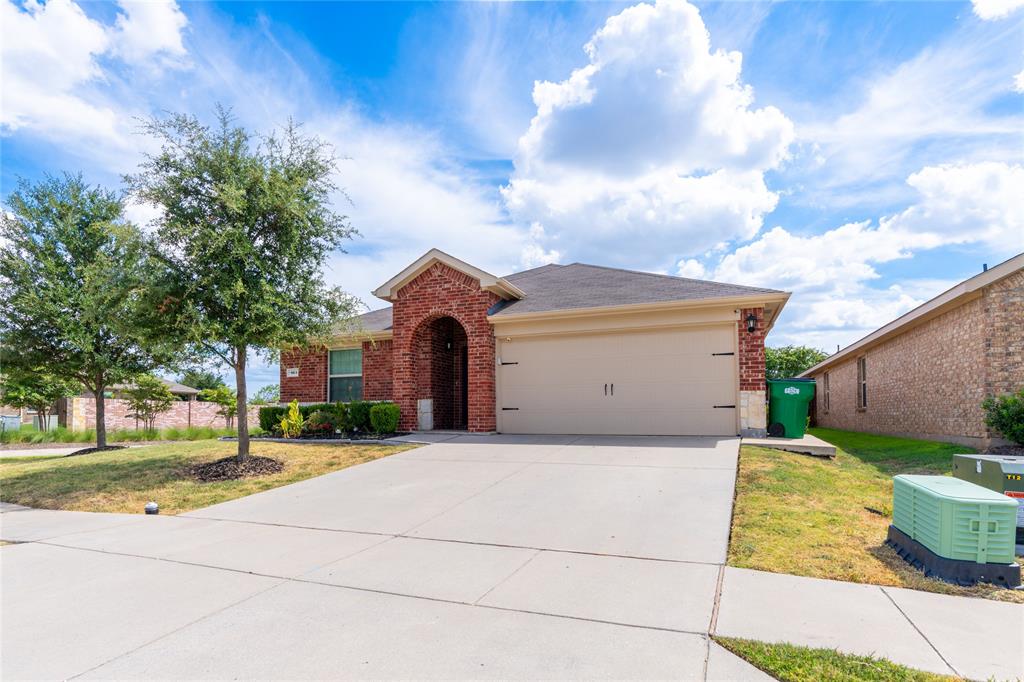
[[[889,476],[901,473],[948,474],[952,470],[953,455],[974,452],[955,443],[858,431],[813,428],[811,433]]]

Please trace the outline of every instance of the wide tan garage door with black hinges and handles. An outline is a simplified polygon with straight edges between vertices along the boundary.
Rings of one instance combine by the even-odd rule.
[[[734,339],[728,325],[503,341],[500,428],[734,435]]]

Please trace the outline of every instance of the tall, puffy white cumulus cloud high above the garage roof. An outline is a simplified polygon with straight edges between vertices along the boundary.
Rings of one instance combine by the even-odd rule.
[[[503,188],[512,215],[543,224],[550,248],[622,264],[652,244],[671,258],[754,237],[778,201],[764,173],[794,133],[777,109],[753,108],[740,54],[713,51],[682,0],[610,17],[585,51],[567,79],[534,88]]]

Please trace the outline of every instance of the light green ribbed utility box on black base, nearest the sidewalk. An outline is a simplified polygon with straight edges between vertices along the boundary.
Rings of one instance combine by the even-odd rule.
[[[962,585],[1018,587],[1016,501],[950,476],[893,479],[889,544],[926,576]]]

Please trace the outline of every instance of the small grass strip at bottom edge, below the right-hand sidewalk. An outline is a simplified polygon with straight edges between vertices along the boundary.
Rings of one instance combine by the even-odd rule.
[[[811,649],[794,644],[767,644],[716,637],[715,641],[782,682],[942,682],[958,680],[913,670],[885,658]]]

